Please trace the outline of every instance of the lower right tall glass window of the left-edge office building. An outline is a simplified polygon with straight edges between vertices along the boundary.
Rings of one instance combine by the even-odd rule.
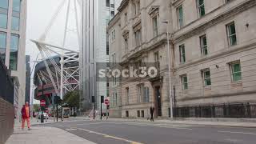
[[[10,70],[17,70],[18,39],[19,39],[19,36],[17,34],[11,34],[11,38],[10,38]]]

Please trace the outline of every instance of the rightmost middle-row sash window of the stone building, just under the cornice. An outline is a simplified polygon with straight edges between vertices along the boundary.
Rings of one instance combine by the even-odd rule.
[[[229,40],[229,45],[234,46],[237,44],[237,35],[236,35],[236,30],[234,26],[234,22],[231,22],[230,24],[226,25],[226,31],[227,31],[227,36]]]

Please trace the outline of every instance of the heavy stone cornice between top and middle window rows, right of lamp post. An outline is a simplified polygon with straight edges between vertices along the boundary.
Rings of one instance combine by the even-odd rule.
[[[253,6],[256,6],[256,1],[255,0],[248,0],[246,2],[242,2],[242,3],[239,4],[239,6],[236,6],[233,9],[226,11],[225,13],[218,14],[218,16],[210,19],[210,21],[208,21],[208,22],[202,23],[200,26],[197,26],[197,27],[195,27],[191,30],[188,30],[188,31],[186,31],[182,34],[179,34],[177,36],[175,36],[175,34],[177,33],[177,32],[175,32],[174,33],[174,38],[172,38],[172,41],[174,43],[177,43],[177,42],[181,42],[181,41],[185,40],[186,38],[193,37],[196,34],[200,34],[204,30],[210,28],[211,26],[214,26],[214,25],[216,25],[220,22],[223,22],[224,20],[226,20],[228,18],[231,18],[234,15],[240,14],[241,12],[243,12],[245,10],[248,10]],[[198,21],[198,20],[196,20],[196,21]],[[190,25],[188,25],[188,26],[190,26]]]

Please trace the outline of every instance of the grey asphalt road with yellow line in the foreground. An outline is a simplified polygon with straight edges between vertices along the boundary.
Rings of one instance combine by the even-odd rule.
[[[158,122],[73,121],[46,124],[98,144],[255,144],[256,129]]]

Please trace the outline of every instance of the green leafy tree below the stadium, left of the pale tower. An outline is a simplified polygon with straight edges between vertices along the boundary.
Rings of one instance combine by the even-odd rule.
[[[78,90],[70,91],[63,97],[63,105],[69,107],[79,107],[80,94]]]

